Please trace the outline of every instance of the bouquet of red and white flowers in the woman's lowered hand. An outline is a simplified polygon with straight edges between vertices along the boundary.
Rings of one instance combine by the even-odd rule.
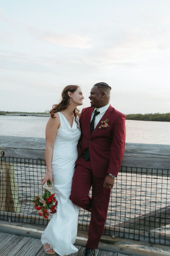
[[[54,197],[55,194],[51,194],[52,186],[49,180],[43,185],[43,189],[45,191],[44,194],[36,196],[32,202],[38,214],[47,219],[49,213],[53,214],[56,212],[55,206],[57,206],[58,202]]]

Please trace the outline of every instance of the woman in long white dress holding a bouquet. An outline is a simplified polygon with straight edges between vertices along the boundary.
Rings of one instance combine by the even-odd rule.
[[[44,251],[48,254],[56,252],[63,256],[77,252],[73,244],[77,235],[78,206],[71,202],[69,196],[78,157],[77,143],[81,136],[76,107],[83,104],[83,99],[79,86],[66,86],[61,102],[50,110],[46,126],[47,172],[42,184],[50,180],[58,201],[57,212],[41,236]]]

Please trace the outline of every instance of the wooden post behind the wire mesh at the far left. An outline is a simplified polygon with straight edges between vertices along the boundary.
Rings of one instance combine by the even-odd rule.
[[[13,163],[7,163],[1,151],[0,210],[19,212],[18,189]]]

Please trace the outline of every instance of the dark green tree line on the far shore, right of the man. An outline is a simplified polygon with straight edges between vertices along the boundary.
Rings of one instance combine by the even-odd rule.
[[[161,121],[161,122],[170,122],[170,113],[166,114],[128,114],[126,115],[127,120],[142,120],[142,121]]]

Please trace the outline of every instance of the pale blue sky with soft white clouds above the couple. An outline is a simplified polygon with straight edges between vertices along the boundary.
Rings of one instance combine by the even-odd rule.
[[[44,112],[98,82],[124,114],[170,112],[169,0],[1,0],[0,111]]]

